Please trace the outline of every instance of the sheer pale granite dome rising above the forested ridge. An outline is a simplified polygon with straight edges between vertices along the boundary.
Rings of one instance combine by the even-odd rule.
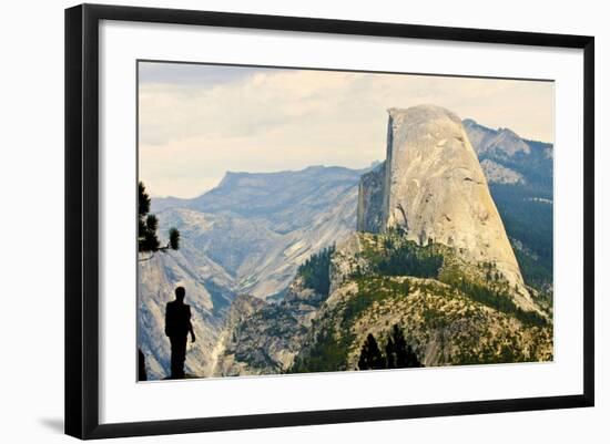
[[[400,228],[420,245],[434,239],[454,247],[468,261],[494,262],[516,289],[516,303],[533,310],[460,118],[433,105],[388,113],[387,158],[385,168],[378,171],[383,177],[372,180],[365,175],[360,180],[358,229]],[[379,180],[382,189],[369,189]],[[375,220],[369,213],[379,207],[378,223],[369,223]]]

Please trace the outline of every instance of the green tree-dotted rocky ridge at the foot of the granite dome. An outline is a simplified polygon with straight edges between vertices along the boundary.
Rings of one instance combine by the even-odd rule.
[[[495,264],[465,262],[450,247],[420,246],[398,230],[357,236],[357,252],[331,255],[340,285],[291,372],[396,365],[387,358],[395,326],[420,364],[552,359],[552,324],[515,303],[517,289]]]

